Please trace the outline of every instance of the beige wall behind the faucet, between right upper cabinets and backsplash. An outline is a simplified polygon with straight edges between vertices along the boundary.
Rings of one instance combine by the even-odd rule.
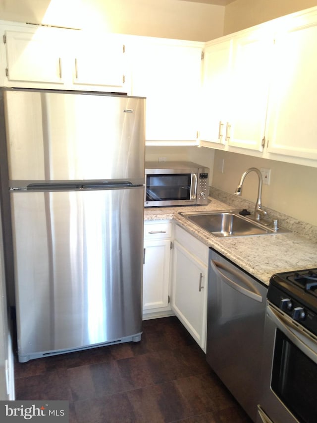
[[[223,174],[219,164],[224,160]],[[270,184],[263,185],[262,204],[317,226],[317,169],[244,154],[215,151],[212,186],[234,193],[241,175],[250,167],[270,169]],[[255,202],[258,177],[252,172],[243,184],[242,198]]]

